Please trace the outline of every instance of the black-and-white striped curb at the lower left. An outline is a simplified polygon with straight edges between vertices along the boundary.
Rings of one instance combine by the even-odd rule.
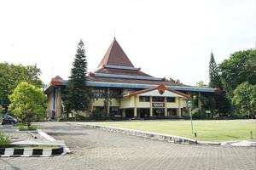
[[[60,156],[63,151],[63,147],[54,149],[1,148],[0,157]]]

